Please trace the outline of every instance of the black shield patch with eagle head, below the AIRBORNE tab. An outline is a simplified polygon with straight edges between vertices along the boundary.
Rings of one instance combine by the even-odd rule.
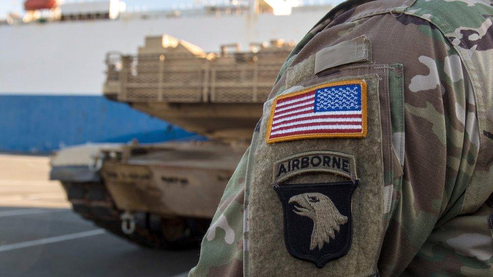
[[[284,242],[293,257],[322,268],[348,253],[351,200],[357,185],[355,180],[274,186],[284,210]]]

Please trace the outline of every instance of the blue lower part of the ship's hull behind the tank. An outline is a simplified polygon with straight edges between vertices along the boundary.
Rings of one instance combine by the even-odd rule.
[[[0,151],[50,153],[87,142],[203,139],[103,96],[0,95]]]

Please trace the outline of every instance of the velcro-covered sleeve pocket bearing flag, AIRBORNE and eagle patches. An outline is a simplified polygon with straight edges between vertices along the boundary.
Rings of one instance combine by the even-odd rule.
[[[400,65],[347,67],[265,103],[247,173],[250,274],[374,273],[402,177],[402,81]]]

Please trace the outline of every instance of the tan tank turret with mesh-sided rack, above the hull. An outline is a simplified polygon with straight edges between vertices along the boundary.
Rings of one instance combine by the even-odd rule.
[[[136,56],[107,55],[104,94],[212,139],[249,140],[292,46],[274,40],[206,53],[169,35],[147,37]]]

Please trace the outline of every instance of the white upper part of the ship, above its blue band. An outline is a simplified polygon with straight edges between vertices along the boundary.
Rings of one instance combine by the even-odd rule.
[[[41,0],[34,2],[43,2]],[[48,1],[50,2],[50,1]],[[110,50],[133,53],[144,37],[167,33],[219,51],[220,45],[299,41],[331,8],[294,1],[218,1],[200,8],[129,12],[119,0],[64,3],[0,25],[0,93],[101,94]],[[318,3],[318,2],[317,2]]]

